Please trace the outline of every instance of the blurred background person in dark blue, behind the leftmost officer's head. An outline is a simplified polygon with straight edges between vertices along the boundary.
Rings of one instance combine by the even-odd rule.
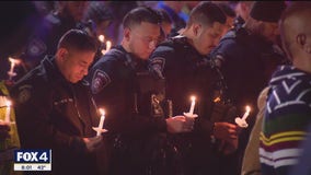
[[[24,55],[28,69],[36,67],[45,55],[54,55],[60,37],[71,28],[84,28],[81,22],[88,1],[58,1],[56,10],[48,13],[36,25],[28,39]]]

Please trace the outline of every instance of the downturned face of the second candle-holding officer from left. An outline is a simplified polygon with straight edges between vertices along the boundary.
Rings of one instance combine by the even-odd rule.
[[[130,52],[141,59],[148,59],[160,38],[160,25],[142,22],[129,30]]]

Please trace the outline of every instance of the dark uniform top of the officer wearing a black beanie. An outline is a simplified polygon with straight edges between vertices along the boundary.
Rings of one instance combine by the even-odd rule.
[[[211,58],[221,58],[221,72],[228,85],[228,95],[241,112],[246,104],[256,108],[256,98],[267,85],[276,66],[285,57],[263,36],[245,28],[233,28],[221,38]],[[256,112],[254,110],[253,114]]]

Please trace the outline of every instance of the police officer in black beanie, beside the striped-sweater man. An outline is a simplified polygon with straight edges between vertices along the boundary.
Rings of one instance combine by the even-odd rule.
[[[249,133],[258,112],[257,96],[267,85],[276,66],[285,60],[281,49],[276,45],[277,21],[284,9],[283,1],[254,2],[245,24],[229,31],[211,54],[211,58],[223,72],[228,97],[237,106],[238,114],[244,113],[245,105],[252,107],[247,118],[250,127],[241,132],[239,151],[235,161],[232,161],[232,165],[238,163],[232,166],[237,174],[240,174],[241,167],[241,162],[237,160],[241,161],[243,156]]]

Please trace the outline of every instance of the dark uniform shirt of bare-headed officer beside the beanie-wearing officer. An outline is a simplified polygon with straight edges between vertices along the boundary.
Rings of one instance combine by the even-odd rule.
[[[191,46],[186,37],[177,36],[162,43],[150,57],[150,68],[159,78],[165,78],[166,97],[172,100],[173,116],[187,113],[191,96],[196,96],[195,114],[201,120],[204,133],[211,132],[210,96],[218,74],[210,69],[206,56]],[[195,127],[196,128],[196,127]]]

